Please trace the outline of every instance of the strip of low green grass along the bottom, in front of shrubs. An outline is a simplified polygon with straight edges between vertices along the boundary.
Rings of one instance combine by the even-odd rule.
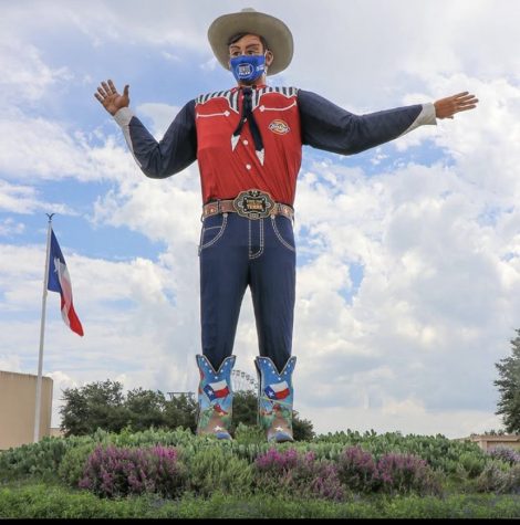
[[[344,503],[309,497],[216,493],[184,494],[168,501],[155,494],[101,500],[49,483],[0,489],[3,518],[518,518],[518,495],[377,496]]]

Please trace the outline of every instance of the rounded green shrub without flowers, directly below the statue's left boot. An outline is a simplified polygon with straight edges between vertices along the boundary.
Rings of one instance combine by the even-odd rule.
[[[216,442],[186,458],[189,487],[198,495],[209,496],[216,491],[226,494],[249,494],[252,469],[248,461]],[[223,443],[222,443],[223,444]]]

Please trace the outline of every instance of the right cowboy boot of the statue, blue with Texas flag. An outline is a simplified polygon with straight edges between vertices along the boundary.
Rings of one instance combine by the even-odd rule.
[[[259,377],[258,422],[266,430],[268,441],[283,443],[292,437],[292,371],[297,358],[290,357],[283,370],[278,371],[269,357],[257,357]]]

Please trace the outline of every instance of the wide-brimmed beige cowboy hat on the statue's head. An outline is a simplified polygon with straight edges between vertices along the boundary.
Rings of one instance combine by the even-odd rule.
[[[208,39],[215,56],[226,70],[229,70],[228,42],[238,33],[258,34],[266,39],[274,56],[268,70],[269,75],[280,73],[291,63],[293,41],[289,28],[270,14],[246,8],[238,13],[219,17],[208,29]]]

